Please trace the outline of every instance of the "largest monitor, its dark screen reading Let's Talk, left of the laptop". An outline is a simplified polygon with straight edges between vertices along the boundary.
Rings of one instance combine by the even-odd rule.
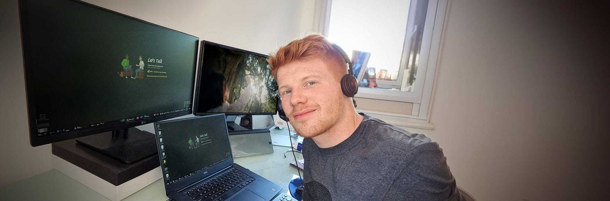
[[[199,38],[80,1],[20,15],[32,146],[191,113]]]

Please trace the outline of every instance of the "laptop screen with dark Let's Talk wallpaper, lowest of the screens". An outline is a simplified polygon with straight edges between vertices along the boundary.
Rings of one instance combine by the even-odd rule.
[[[223,114],[158,122],[156,133],[167,184],[232,158]]]

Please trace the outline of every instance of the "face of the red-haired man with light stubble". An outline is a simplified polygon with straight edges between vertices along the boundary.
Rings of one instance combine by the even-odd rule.
[[[336,124],[345,97],[339,80],[320,58],[278,68],[282,108],[299,135],[312,138]]]

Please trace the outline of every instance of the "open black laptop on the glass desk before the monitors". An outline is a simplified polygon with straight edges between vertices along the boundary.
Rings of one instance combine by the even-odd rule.
[[[271,200],[275,183],[233,163],[224,114],[156,122],[167,197],[174,200]]]

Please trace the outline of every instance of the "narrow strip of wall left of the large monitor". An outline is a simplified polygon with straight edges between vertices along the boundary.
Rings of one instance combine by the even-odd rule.
[[[0,2],[0,186],[52,169],[51,145],[30,146],[17,1]]]

